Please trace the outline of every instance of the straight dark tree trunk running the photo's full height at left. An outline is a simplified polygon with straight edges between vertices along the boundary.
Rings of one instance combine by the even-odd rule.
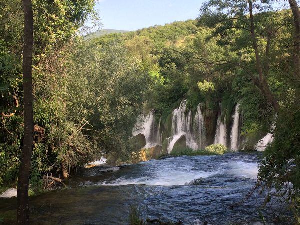
[[[24,50],[23,50],[23,87],[24,87],[24,140],[22,159],[17,182],[17,224],[29,224],[28,185],[33,147],[33,96],[32,96],[32,47],[33,11],[31,0],[23,0],[24,7]]]

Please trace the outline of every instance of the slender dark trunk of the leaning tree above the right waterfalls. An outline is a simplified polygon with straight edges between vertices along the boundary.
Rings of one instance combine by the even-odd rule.
[[[250,29],[251,29],[252,46],[255,51],[256,66],[257,66],[258,75],[259,75],[259,82],[257,82],[256,80],[253,80],[253,81],[258,86],[258,88],[261,90],[262,94],[266,97],[268,102],[270,102],[272,104],[275,112],[279,113],[279,111],[280,111],[279,103],[278,103],[277,99],[275,98],[275,96],[273,95],[273,93],[271,92],[271,90],[267,84],[267,81],[265,80],[263,70],[262,70],[262,64],[261,64],[261,60],[260,60],[257,39],[256,39],[256,34],[255,34],[252,1],[248,0],[248,4],[249,4],[249,14],[250,14],[250,27],[251,27]]]

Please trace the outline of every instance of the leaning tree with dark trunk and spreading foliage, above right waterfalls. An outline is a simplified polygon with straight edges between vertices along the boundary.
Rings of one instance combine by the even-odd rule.
[[[259,13],[254,14],[253,10]],[[267,76],[270,70],[271,44],[276,32],[284,26],[284,21],[273,22],[274,15],[263,10],[263,4],[260,5],[259,2],[253,5],[252,0],[206,2],[201,9],[198,25],[212,28],[211,37],[219,36],[219,44],[230,45],[230,50],[235,51],[237,57],[214,62],[202,60],[202,62],[243,69],[244,74],[251,78],[278,113],[280,106],[268,85]],[[232,44],[234,41],[239,43],[238,46]],[[250,63],[243,61],[242,54],[248,54]],[[253,61],[255,61],[256,70],[252,69]]]

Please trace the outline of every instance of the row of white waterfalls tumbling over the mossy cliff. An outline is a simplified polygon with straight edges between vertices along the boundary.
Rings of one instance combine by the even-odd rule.
[[[224,122],[221,121],[221,117],[218,116],[216,133],[214,137],[214,144],[223,144],[227,146],[232,151],[237,151],[239,147],[240,137],[239,137],[239,104],[236,104],[234,113],[231,117],[232,127],[230,131],[230,143],[227,144],[227,128]],[[187,147],[196,150],[199,148],[204,148],[207,145],[206,141],[206,132],[205,132],[205,123],[204,116],[202,114],[201,103],[197,106],[197,111],[192,117],[192,112],[189,110],[186,112],[186,100],[182,101],[178,108],[174,109],[172,112],[172,126],[171,126],[171,136],[167,140],[167,153],[170,153],[173,150],[174,145],[180,139],[185,141]],[[154,110],[146,116],[143,117],[143,120],[139,124],[139,128],[135,128],[133,135],[139,133],[145,136],[146,145],[144,148],[154,147],[156,145],[162,145],[162,121],[161,118],[159,123],[156,124]],[[138,125],[137,125],[138,127]],[[182,137],[184,136],[184,137]],[[184,139],[182,139],[184,138]],[[270,136],[265,137],[262,143],[265,143],[265,139],[270,138]],[[178,143],[179,143],[178,142]]]

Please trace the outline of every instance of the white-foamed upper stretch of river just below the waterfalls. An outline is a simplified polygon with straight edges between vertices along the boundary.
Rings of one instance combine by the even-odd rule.
[[[236,154],[236,153],[235,153]],[[251,158],[250,158],[251,159]],[[127,167],[94,185],[145,184],[148,186],[185,185],[199,178],[232,177],[256,179],[257,161],[247,158],[223,156],[181,156],[164,160],[151,160]],[[120,170],[122,173],[122,170]]]

